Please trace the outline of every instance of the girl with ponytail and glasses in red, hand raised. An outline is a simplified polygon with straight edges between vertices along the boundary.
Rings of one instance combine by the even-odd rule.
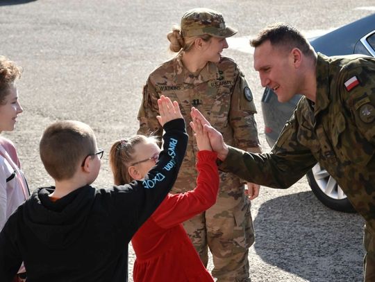
[[[215,204],[219,188],[217,154],[212,152],[200,121],[192,127],[199,148],[197,186],[186,193],[169,193],[133,236],[131,242],[137,256],[135,282],[213,281],[181,224]],[[115,184],[143,179],[158,162],[159,153],[158,141],[153,136],[136,135],[115,142],[110,149]]]

